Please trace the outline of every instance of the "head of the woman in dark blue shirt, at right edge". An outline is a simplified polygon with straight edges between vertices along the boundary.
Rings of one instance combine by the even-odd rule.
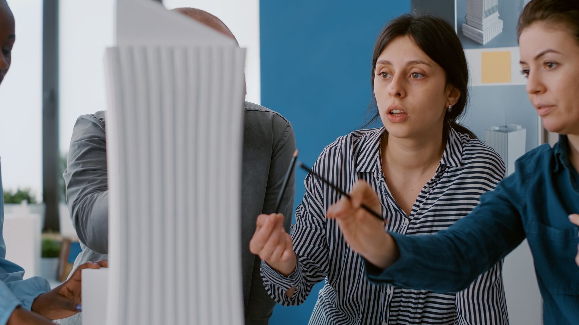
[[[579,135],[579,1],[533,0],[517,29],[527,93],[545,128]]]

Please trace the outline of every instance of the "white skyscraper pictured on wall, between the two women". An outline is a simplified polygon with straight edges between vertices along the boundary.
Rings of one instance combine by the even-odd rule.
[[[507,168],[507,176],[515,171],[515,160],[525,154],[527,130],[509,124],[485,130],[485,143],[499,153]]]

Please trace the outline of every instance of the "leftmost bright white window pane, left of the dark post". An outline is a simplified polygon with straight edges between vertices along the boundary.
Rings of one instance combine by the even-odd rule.
[[[42,0],[8,0],[16,20],[12,66],[0,86],[0,157],[5,190],[42,200]]]

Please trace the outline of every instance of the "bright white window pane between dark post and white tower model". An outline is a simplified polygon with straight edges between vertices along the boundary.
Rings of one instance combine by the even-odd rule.
[[[77,117],[107,109],[104,52],[113,46],[114,21],[114,0],[60,0],[61,153]]]

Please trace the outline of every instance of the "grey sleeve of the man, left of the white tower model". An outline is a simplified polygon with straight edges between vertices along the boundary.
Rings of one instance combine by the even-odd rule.
[[[76,120],[64,171],[71,219],[80,241],[108,251],[107,143],[102,112]]]

